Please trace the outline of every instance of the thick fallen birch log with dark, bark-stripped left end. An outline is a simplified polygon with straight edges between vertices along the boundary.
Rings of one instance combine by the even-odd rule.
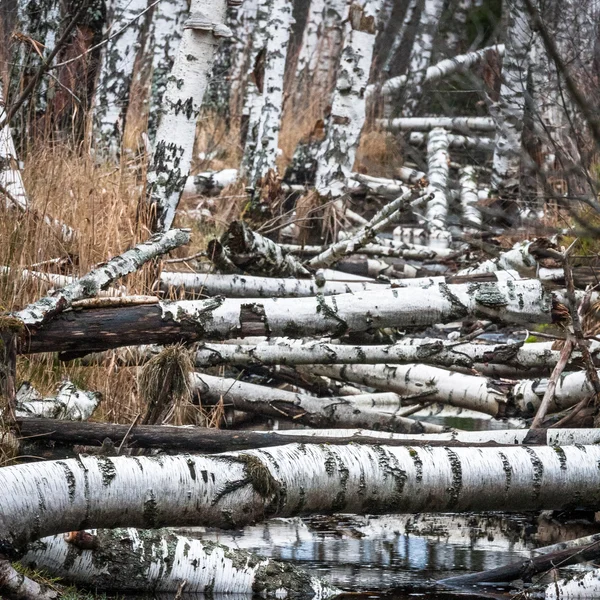
[[[43,328],[29,327],[21,352],[93,351],[140,344],[232,339],[246,336],[342,336],[382,327],[424,327],[466,317],[509,323],[551,323],[565,318],[562,305],[539,281],[447,285],[427,289],[316,296],[301,300],[248,301],[222,297],[158,302],[58,315]]]

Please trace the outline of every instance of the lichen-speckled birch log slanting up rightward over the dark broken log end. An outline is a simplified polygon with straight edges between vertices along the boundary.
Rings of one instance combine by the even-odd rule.
[[[65,287],[56,290],[52,296],[46,296],[14,313],[25,325],[41,325],[58,312],[69,308],[75,300],[97,296],[115,279],[137,271],[149,260],[187,244],[189,230],[174,229],[151,237],[147,242],[138,244],[107,263],[92,269],[87,275],[76,279]]]

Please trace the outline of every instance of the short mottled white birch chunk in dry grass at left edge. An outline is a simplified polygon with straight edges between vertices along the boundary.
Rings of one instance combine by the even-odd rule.
[[[70,381],[60,384],[56,396],[43,398],[27,382],[17,390],[16,416],[87,421],[102,399],[97,392],[78,389]]]

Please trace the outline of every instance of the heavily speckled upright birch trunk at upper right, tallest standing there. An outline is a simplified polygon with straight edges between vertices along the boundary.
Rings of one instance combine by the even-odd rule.
[[[514,0],[508,5],[508,30],[502,61],[500,99],[492,107],[497,122],[492,188],[499,192],[513,191],[519,185],[521,136],[531,43],[527,9],[522,0]]]

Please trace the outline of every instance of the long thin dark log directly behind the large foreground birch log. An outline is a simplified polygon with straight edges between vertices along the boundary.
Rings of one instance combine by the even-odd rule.
[[[86,421],[55,421],[53,419],[18,419],[19,433],[28,441],[48,440],[60,444],[81,444],[102,446],[109,438],[118,446],[127,436],[126,445],[130,448],[163,448],[177,452],[226,452],[229,450],[248,450],[250,448],[268,448],[287,443],[316,442],[323,444],[375,444],[388,446],[441,446],[441,447],[497,447],[496,442],[459,442],[456,440],[427,440],[415,437],[394,439],[388,436],[369,437],[365,435],[347,437],[314,436],[307,432],[297,432],[293,436],[276,431],[227,431],[204,427],[173,427],[170,425],[115,425],[111,423],[90,423]],[[131,429],[131,431],[130,431]],[[127,433],[129,432],[129,435]],[[547,431],[537,429],[526,438],[529,446],[546,445]]]

